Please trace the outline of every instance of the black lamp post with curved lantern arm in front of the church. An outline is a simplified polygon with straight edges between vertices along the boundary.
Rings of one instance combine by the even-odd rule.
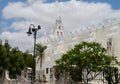
[[[34,38],[34,51],[33,51],[33,59],[34,59],[34,66],[33,66],[33,84],[34,84],[34,81],[35,81],[35,67],[36,67],[36,63],[35,63],[35,52],[36,52],[36,49],[35,49],[35,46],[36,46],[36,35],[37,35],[37,31],[41,29],[41,26],[38,25],[37,28],[35,28],[35,26],[33,24],[30,24],[29,25],[29,29],[28,29],[28,36],[32,35],[33,34],[33,38]]]

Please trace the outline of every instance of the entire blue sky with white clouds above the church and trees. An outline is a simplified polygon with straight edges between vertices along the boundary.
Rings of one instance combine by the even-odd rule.
[[[106,20],[120,18],[120,0],[0,0],[0,39],[21,50],[30,50],[30,24],[41,25],[37,34],[50,33],[61,16],[65,32],[81,30]]]

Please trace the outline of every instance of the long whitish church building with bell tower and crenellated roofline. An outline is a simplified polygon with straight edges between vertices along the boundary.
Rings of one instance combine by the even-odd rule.
[[[113,21],[104,25],[99,25],[86,31],[73,32],[66,34],[61,18],[56,20],[53,33],[49,36],[44,35],[41,38],[41,43],[47,46],[42,59],[42,68],[40,68],[40,60],[36,58],[36,79],[46,79],[50,84],[52,67],[55,65],[55,60],[61,58],[63,53],[70,50],[74,45],[82,41],[94,41],[102,44],[109,54],[117,56],[120,61],[120,22]],[[43,77],[44,76],[44,77]],[[54,81],[52,81],[54,84]],[[97,83],[95,83],[97,84]]]

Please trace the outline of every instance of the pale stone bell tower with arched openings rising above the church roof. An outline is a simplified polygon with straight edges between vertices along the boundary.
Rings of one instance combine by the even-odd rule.
[[[63,23],[62,23],[61,17],[56,19],[55,28],[53,30],[53,33],[57,37],[61,37],[64,35],[64,28],[63,28]]]

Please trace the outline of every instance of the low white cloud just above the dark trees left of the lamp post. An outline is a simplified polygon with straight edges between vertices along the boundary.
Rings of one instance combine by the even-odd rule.
[[[0,35],[0,38],[5,41],[6,39],[9,40],[10,45],[12,47],[19,47],[21,50],[31,50],[33,44],[33,38],[28,37],[27,34],[21,32],[3,32]]]

